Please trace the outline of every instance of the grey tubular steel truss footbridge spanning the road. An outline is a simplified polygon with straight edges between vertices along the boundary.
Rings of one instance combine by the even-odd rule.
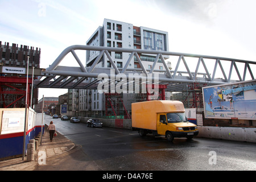
[[[84,67],[76,53],[78,50],[98,52],[92,65]],[[129,59],[123,61],[125,63],[123,68],[117,67],[110,52],[129,53]],[[75,57],[74,60],[77,61],[79,67],[72,67],[74,63],[70,63],[71,66],[60,65],[65,56],[70,53]],[[112,68],[99,66],[104,54],[108,57]],[[155,56],[151,69],[144,67],[140,58],[141,54]],[[136,61],[141,68],[129,67],[134,57],[136,57]],[[164,57],[170,58],[172,69],[167,65]],[[163,69],[156,68],[156,63],[159,60],[163,63]],[[255,61],[145,49],[76,45],[64,49],[47,69],[42,69],[41,75],[34,80],[34,86],[36,88],[97,89],[97,85],[102,81],[103,75],[104,79],[106,79],[106,76],[109,78],[109,82],[115,80],[115,84],[121,80],[126,81],[127,87],[136,85],[135,80],[139,79],[140,82],[146,82],[146,84],[147,82],[152,82],[153,84],[167,85],[166,91],[179,92],[183,91],[184,87],[189,83],[219,85],[254,80],[255,70]],[[235,78],[233,79],[233,77]]]

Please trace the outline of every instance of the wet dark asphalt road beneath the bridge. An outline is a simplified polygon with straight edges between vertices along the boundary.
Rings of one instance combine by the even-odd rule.
[[[46,116],[57,131],[73,143],[102,170],[256,170],[256,144],[228,140],[139,137],[137,131],[109,127],[91,128]]]

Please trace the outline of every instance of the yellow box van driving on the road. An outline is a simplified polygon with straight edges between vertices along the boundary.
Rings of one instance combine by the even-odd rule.
[[[184,105],[180,101],[146,101],[131,104],[133,130],[142,137],[146,134],[164,135],[172,141],[175,137],[192,139],[198,135],[197,126],[188,122]]]

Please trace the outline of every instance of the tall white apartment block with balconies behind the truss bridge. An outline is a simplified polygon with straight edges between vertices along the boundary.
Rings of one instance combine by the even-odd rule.
[[[87,46],[104,46],[134,49],[150,49],[156,51],[169,51],[168,32],[155,30],[147,27],[133,26],[131,23],[119,22],[116,20],[104,19],[103,26],[90,36],[86,42]],[[86,67],[89,67],[96,60],[100,51],[86,51]],[[111,52],[117,68],[123,68],[130,57],[130,53]],[[139,55],[144,67],[151,69],[155,57],[151,55]],[[164,57],[168,59],[168,56]],[[170,65],[170,63],[167,63]],[[112,65],[108,57],[104,54],[96,67],[111,68]],[[130,61],[128,68],[139,68],[140,65],[136,57]],[[156,64],[155,69],[163,69],[162,61]],[[170,68],[171,69],[171,68]],[[96,78],[87,80],[92,82]],[[126,95],[126,96],[125,96]],[[123,94],[123,104],[127,110],[131,109],[129,94]],[[105,96],[99,94],[97,90],[79,90],[79,115],[104,115]]]

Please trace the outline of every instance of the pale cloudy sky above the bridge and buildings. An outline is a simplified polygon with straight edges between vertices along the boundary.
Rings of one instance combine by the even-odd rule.
[[[0,7],[0,40],[41,48],[40,68],[85,45],[104,18],[167,31],[170,52],[256,61],[255,0],[0,0]],[[39,89],[39,100],[64,93]]]

